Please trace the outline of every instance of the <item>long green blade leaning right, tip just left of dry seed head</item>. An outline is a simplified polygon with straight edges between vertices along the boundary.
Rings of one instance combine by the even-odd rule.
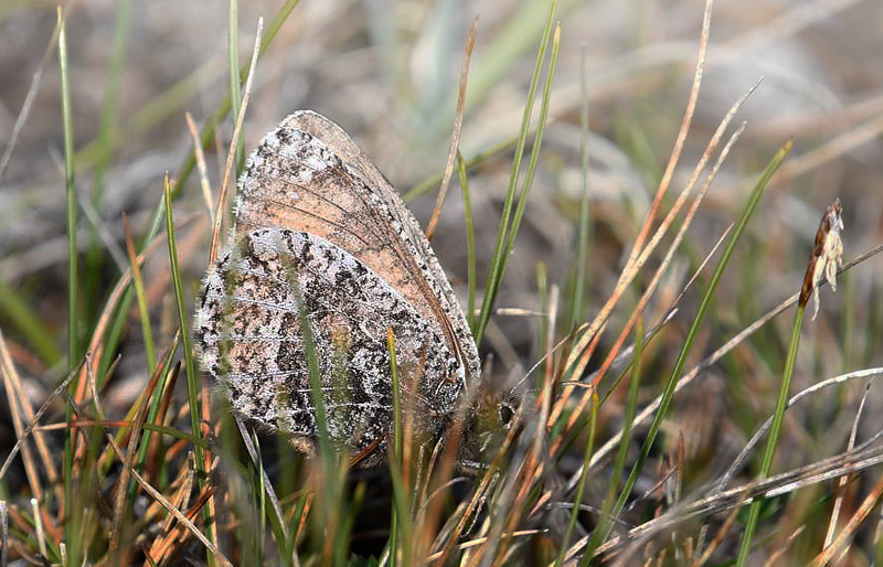
[[[678,361],[674,364],[674,368],[671,372],[671,376],[669,377],[668,383],[666,384],[666,389],[662,394],[662,398],[659,404],[659,410],[653,417],[653,421],[650,424],[650,430],[647,432],[647,439],[643,442],[643,446],[641,447],[640,454],[638,456],[638,459],[631,469],[631,473],[626,480],[626,485],[623,489],[623,492],[619,494],[619,499],[617,500],[616,505],[614,506],[613,510],[614,517],[618,517],[623,509],[625,507],[626,500],[630,495],[631,490],[638,480],[638,475],[640,474],[643,468],[643,462],[650,454],[650,449],[652,448],[652,445],[656,441],[656,436],[659,434],[659,429],[662,426],[662,421],[664,420],[668,414],[669,405],[671,404],[671,398],[674,395],[674,387],[678,385],[681,372],[683,371],[683,366],[687,363],[687,357],[690,351],[692,350],[696,335],[699,334],[699,328],[702,325],[702,322],[705,319],[705,314],[708,313],[708,310],[711,307],[714,291],[717,288],[721,278],[723,277],[724,269],[730,263],[730,258],[733,255],[733,250],[735,249],[740,237],[745,231],[745,227],[748,224],[748,220],[752,217],[752,214],[757,207],[757,203],[760,201],[760,196],[763,195],[766,185],[769,183],[773,173],[775,173],[775,171],[781,164],[783,160],[788,154],[792,146],[794,146],[792,141],[788,140],[764,170],[763,174],[760,175],[760,179],[757,181],[757,184],[755,185],[751,196],[748,197],[748,202],[745,205],[745,210],[743,211],[736,227],[733,229],[733,234],[731,235],[730,240],[726,244],[726,248],[721,255],[721,259],[717,261],[717,265],[714,268],[714,274],[712,275],[711,281],[709,282],[709,289],[705,290],[705,293],[702,297],[702,302],[699,306],[695,319],[693,320],[693,323],[690,327],[690,331],[687,334],[683,347],[681,349],[681,352],[678,356]],[[602,534],[602,536],[599,536],[600,537],[599,542],[606,541],[608,534],[609,531],[607,531],[607,533],[605,534]]]

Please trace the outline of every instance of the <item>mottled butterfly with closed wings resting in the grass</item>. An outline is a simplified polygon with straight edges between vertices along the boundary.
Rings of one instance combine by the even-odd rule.
[[[355,142],[308,110],[248,158],[233,246],[203,280],[195,335],[233,410],[312,452],[301,312],[329,437],[354,454],[383,452],[392,431],[390,330],[422,438],[437,439],[480,381],[472,334],[416,220]]]

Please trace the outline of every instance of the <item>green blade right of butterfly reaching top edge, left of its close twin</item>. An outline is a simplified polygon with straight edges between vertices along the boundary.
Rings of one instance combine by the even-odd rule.
[[[519,173],[521,172],[521,159],[524,154],[524,147],[528,142],[528,130],[533,115],[533,104],[536,98],[536,88],[540,84],[540,72],[545,61],[545,52],[549,47],[549,38],[552,33],[552,18],[555,13],[555,6],[557,1],[551,0],[549,3],[549,14],[546,15],[545,26],[543,28],[543,38],[540,41],[540,51],[536,55],[534,63],[533,74],[531,75],[531,83],[528,87],[528,100],[524,104],[524,111],[521,118],[521,128],[519,130],[518,142],[515,143],[515,154],[512,159],[512,171],[509,175],[509,189],[506,192],[506,201],[503,202],[502,216],[500,225],[497,228],[497,244],[494,245],[493,257],[491,259],[490,270],[488,272],[488,281],[485,284],[486,292],[485,299],[481,302],[481,312],[478,318],[478,325],[475,332],[476,343],[481,344],[481,338],[485,334],[485,328],[490,319],[490,312],[493,308],[493,301],[497,295],[497,288],[502,278],[501,265],[504,261],[503,250],[506,243],[509,239],[509,221],[512,215],[514,206],[515,191],[518,188]]]

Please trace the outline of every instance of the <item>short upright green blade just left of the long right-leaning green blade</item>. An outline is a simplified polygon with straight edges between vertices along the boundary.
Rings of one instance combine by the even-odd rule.
[[[618,511],[616,514],[611,515],[610,507],[613,506],[614,499],[616,498],[616,489],[619,486],[619,481],[623,479],[623,471],[626,468],[626,458],[628,457],[628,449],[629,445],[631,443],[631,430],[632,425],[635,424],[635,415],[637,414],[638,392],[641,381],[641,355],[643,354],[643,317],[642,314],[639,314],[635,321],[635,359],[632,362],[631,382],[628,386],[626,414],[624,416],[623,424],[623,440],[619,442],[619,450],[616,453],[614,472],[613,477],[610,478],[610,482],[607,485],[607,496],[604,499],[604,503],[602,504],[598,524],[592,534],[592,539],[588,542],[586,553],[583,556],[583,559],[579,561],[579,565],[582,566],[588,565],[589,561],[592,561],[595,550],[602,544],[602,538],[607,537],[607,534],[609,534],[610,529],[613,529],[616,517],[619,515]]]

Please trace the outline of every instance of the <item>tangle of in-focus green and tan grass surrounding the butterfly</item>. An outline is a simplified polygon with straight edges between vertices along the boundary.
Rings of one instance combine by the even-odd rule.
[[[191,191],[190,173],[194,165],[199,165],[202,185],[210,186],[202,149],[215,142],[217,126],[227,118],[233,124],[233,142],[225,169],[219,176],[226,180],[222,183],[224,188],[236,178],[244,156],[243,125],[251,92],[251,86],[246,85],[251,85],[258,57],[297,3],[288,1],[280,8],[267,34],[263,39],[258,34],[249,66],[242,67],[237,55],[237,3],[231,2],[228,93],[205,120],[201,133],[195,135],[193,128],[198,147],[188,153],[173,176],[166,178],[162,197],[157,201],[140,238],[131,234],[126,222],[129,265],[115,276],[106,297],[98,293],[94,274],[84,278],[78,270],[81,261],[93,268],[110,263],[104,261],[106,253],[97,239],[91,243],[87,257],[81,258],[77,246],[79,204],[74,172],[91,171],[96,180],[96,196],[100,197],[108,164],[125,143],[120,132],[141,127],[135,118],[120,127],[114,116],[125,60],[128,3],[120,7],[99,136],[96,142],[82,145],[78,152],[71,107],[71,79],[75,77],[68,74],[68,36],[60,11],[57,47],[63,108],[60,131],[64,140],[68,229],[67,360],[62,371],[65,376],[58,378],[50,399],[34,413],[18,371],[17,362],[22,355],[13,354],[8,334],[0,333],[0,371],[15,429],[15,443],[0,468],[0,567],[9,559],[45,560],[65,566],[175,565],[191,560],[211,565],[290,566],[704,565],[732,559],[745,565],[752,563],[751,554],[758,552],[768,557],[777,554],[807,556],[815,565],[823,565],[849,549],[883,498],[883,483],[872,486],[844,527],[838,527],[838,513],[832,513],[834,517],[825,543],[812,539],[812,534],[828,522],[819,522],[813,516],[825,510],[831,495],[818,486],[826,479],[851,478],[877,463],[883,451],[873,439],[859,445],[853,439],[849,449],[840,454],[769,477],[774,458],[785,452],[788,431],[783,424],[789,405],[822,387],[858,378],[870,381],[883,373],[879,368],[865,368],[843,374],[817,388],[800,392],[788,404],[806,301],[823,282],[811,278],[805,284],[799,302],[797,297],[784,299],[688,370],[690,361],[701,356],[698,345],[715,341],[717,336],[712,331],[728,329],[724,324],[726,308],[719,288],[737,285],[736,274],[746,270],[745,265],[737,261],[751,261],[740,260],[738,254],[754,245],[751,235],[758,223],[754,213],[763,208],[763,200],[767,199],[764,192],[775,181],[777,169],[791,149],[790,141],[772,159],[766,158],[768,165],[744,200],[741,217],[721,236],[721,242],[726,240],[726,244],[711,274],[706,274],[705,265],[716,256],[717,247],[691,243],[696,249],[705,250],[708,257],[693,264],[695,276],[678,289],[680,295],[664,306],[662,315],[653,324],[647,325],[649,330],[645,329],[645,320],[650,318],[653,303],[662,296],[660,286],[671,271],[672,263],[689,256],[683,250],[688,229],[746,126],[738,126],[726,143],[722,146],[721,142],[745,98],[755,88],[752,87],[724,117],[684,189],[673,200],[667,199],[674,183],[675,168],[682,161],[699,98],[711,2],[705,10],[693,88],[669,164],[659,180],[645,222],[635,229],[630,254],[621,270],[615,274],[613,291],[603,298],[603,304],[596,306],[597,314],[591,319],[585,314],[591,310],[586,288],[592,284],[587,274],[597,270],[591,258],[604,243],[596,239],[602,236],[593,226],[599,221],[589,214],[592,149],[588,145],[587,78],[584,76],[582,81],[582,186],[575,215],[579,228],[570,270],[571,292],[561,295],[565,299],[560,304],[560,282],[545,266],[538,267],[538,287],[542,296],[540,354],[538,360],[531,361],[535,363],[533,368],[518,376],[521,384],[514,395],[520,404],[512,416],[512,427],[488,442],[480,467],[469,474],[458,469],[455,448],[465,442],[459,436],[467,431],[448,431],[445,442],[437,445],[415,439],[411,435],[415,416],[408,397],[401,395],[407,388],[396,386],[393,388],[394,427],[387,442],[389,464],[373,471],[352,468],[349,454],[328,439],[319,362],[309,336],[305,338],[305,344],[321,432],[316,459],[294,456],[285,439],[279,439],[274,447],[273,439],[268,442],[260,432],[249,431],[230,411],[210,413],[212,399],[198,372],[189,335],[188,298],[194,284],[187,280],[187,270],[179,264],[187,254],[184,247],[179,246],[187,222],[182,222],[182,215],[174,214],[173,208],[175,200]],[[557,9],[552,0],[540,20],[533,11],[535,6],[525,8],[519,12],[518,25],[512,28],[521,29],[528,20],[536,20],[528,36],[539,38],[518,136],[487,152],[459,153],[460,120],[468,119],[465,118],[464,72],[458,85],[457,126],[448,167],[444,175],[433,175],[412,191],[417,194],[439,182],[447,185],[456,165],[467,225],[467,318],[482,344],[493,341],[491,332],[500,292],[510,258],[519,252],[517,243],[524,237],[522,224],[542,165],[543,140],[555,96],[561,38],[567,32],[566,23],[555,22],[561,15]],[[507,38],[501,38],[499,44],[511,47],[511,36],[510,43],[502,41]],[[50,45],[53,42],[54,39]],[[465,69],[468,62],[467,56]],[[479,97],[487,93],[488,77],[497,76],[500,64],[498,61],[488,75],[480,77]],[[174,93],[169,93],[171,98],[180,96],[175,88],[171,89]],[[162,97],[157,98],[155,103]],[[156,117],[173,106],[146,108],[143,113]],[[475,174],[476,165],[502,152],[511,158],[508,190],[487,277],[481,280],[477,259],[481,243],[476,242],[470,175]],[[745,180],[738,184],[751,186]],[[221,246],[227,208],[224,190],[220,193],[214,201],[211,192],[205,192],[206,203],[217,211],[212,214],[210,263],[216,258]],[[664,207],[669,208],[663,215]],[[437,218],[434,215],[433,226]],[[680,225],[673,231],[679,218]],[[731,221],[727,218],[727,222]],[[150,257],[161,257],[157,248],[163,245],[168,252],[167,276],[160,280],[162,289],[151,291],[141,267]],[[879,250],[880,247],[874,248],[847,263],[841,271]],[[834,268],[830,268],[830,274]],[[685,320],[689,324],[681,333],[672,321],[678,321],[681,311],[692,309],[692,289],[688,288],[694,281],[702,289],[696,293],[695,313],[692,320]],[[39,321],[34,310],[15,290],[6,288],[6,285],[0,287],[0,309],[14,313],[7,318],[12,321],[13,331],[33,345],[35,357],[49,364],[57,362],[61,359],[57,346],[52,341],[41,340],[43,334],[50,333],[49,327]],[[480,298],[478,290],[483,290]],[[84,296],[88,301],[83,301]],[[173,317],[156,317],[151,298],[160,296],[173,300],[169,309]],[[137,310],[131,308],[134,301]],[[737,346],[744,346],[752,333],[795,302],[798,302],[796,322],[787,352],[777,353],[772,349],[772,354],[759,360],[769,367],[783,366],[785,371],[770,419],[769,440],[756,477],[745,473],[740,485],[730,486],[747,462],[764,427],[726,472],[712,471],[708,483],[691,484],[692,474],[708,471],[696,463],[698,459],[687,456],[683,438],[666,447],[659,442],[660,434],[666,434],[667,427],[675,422],[672,406],[675,395],[709,366]],[[108,413],[104,405],[106,388],[120,366],[128,363],[120,353],[132,356],[130,347],[124,351],[120,345],[127,343],[127,321],[136,313],[140,320],[142,342],[139,344],[149,381],[131,407],[117,416]],[[305,313],[301,313],[301,328],[305,335],[309,335]],[[616,328],[619,328],[618,335],[607,339],[605,331]],[[626,344],[629,336],[634,336],[631,346]],[[128,343],[134,342],[128,340]],[[392,335],[389,343],[393,361],[391,376],[397,384],[401,376]],[[185,396],[175,394],[180,359],[184,361],[185,374],[185,387],[180,389],[185,389]],[[667,376],[667,379],[656,382],[656,375]],[[734,373],[734,379],[738,377]],[[647,403],[648,394],[657,396],[656,399]],[[485,396],[486,393],[470,392],[470,395]],[[488,399],[467,399],[465,405],[467,402],[488,404]],[[63,418],[57,407],[53,407],[60,404],[65,407]],[[501,410],[497,406],[488,407]],[[46,416],[58,422],[52,425]],[[646,426],[648,419],[649,427]],[[855,417],[857,424],[858,419]],[[754,428],[753,421],[748,428]],[[61,458],[53,452],[53,447],[58,446],[64,447]],[[614,451],[615,459],[610,463],[608,456]],[[9,474],[18,462],[15,459],[22,463],[19,480]],[[849,489],[850,485],[841,483],[841,490]],[[811,500],[809,505],[800,502],[806,494]],[[741,514],[746,507],[747,514]],[[837,510],[840,510],[839,504]],[[741,547],[736,555],[738,542]],[[865,546],[865,553],[883,556],[883,552],[873,546]]]

